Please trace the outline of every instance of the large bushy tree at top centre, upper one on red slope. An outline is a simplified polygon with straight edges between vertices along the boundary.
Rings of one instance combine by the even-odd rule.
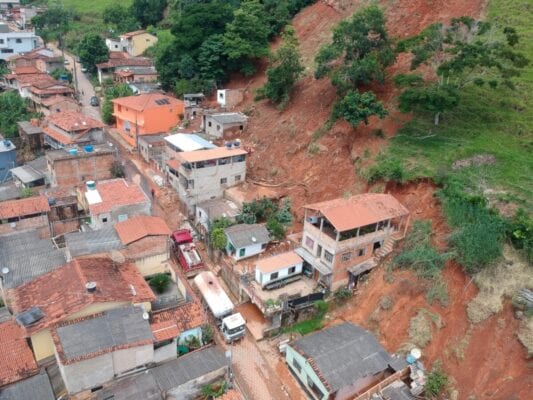
[[[315,76],[329,76],[343,96],[361,84],[383,82],[385,68],[395,59],[383,11],[370,6],[333,29],[332,43],[323,46],[315,59]]]

